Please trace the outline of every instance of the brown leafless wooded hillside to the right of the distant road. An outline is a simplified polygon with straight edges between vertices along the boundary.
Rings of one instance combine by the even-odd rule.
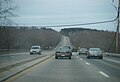
[[[68,35],[71,43],[76,48],[85,47],[89,49],[90,47],[99,47],[104,51],[115,52],[115,32],[86,28],[67,28],[62,29],[61,33]]]

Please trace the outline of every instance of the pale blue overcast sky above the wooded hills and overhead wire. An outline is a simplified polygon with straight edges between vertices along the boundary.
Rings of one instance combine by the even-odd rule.
[[[16,14],[19,17],[13,20],[18,25],[82,24],[112,20],[116,17],[112,0],[14,0],[14,3],[18,6]],[[116,5],[116,3],[113,4]],[[78,27],[116,29],[115,22]],[[54,27],[53,29],[60,30],[61,28]]]

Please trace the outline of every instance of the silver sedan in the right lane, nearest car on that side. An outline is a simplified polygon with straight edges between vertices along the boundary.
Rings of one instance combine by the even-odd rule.
[[[99,59],[103,59],[103,51],[100,48],[90,48],[87,58],[90,57],[98,57]]]

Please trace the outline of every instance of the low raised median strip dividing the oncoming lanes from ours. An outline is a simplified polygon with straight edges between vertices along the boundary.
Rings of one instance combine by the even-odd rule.
[[[2,74],[0,74],[0,82],[6,82],[6,80],[16,76],[17,74],[19,74],[27,69],[30,69],[30,68],[38,65],[39,63],[44,62],[45,60],[51,58],[52,56],[53,55],[44,56],[44,57],[38,58],[34,61],[30,61],[30,62],[22,64],[20,66],[14,67],[10,71],[4,71],[4,72],[2,72]]]

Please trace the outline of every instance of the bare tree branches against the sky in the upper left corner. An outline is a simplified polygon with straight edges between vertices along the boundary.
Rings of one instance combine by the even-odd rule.
[[[13,7],[12,0],[0,0],[0,26],[13,24],[12,17],[16,16],[13,12],[16,7]]]

